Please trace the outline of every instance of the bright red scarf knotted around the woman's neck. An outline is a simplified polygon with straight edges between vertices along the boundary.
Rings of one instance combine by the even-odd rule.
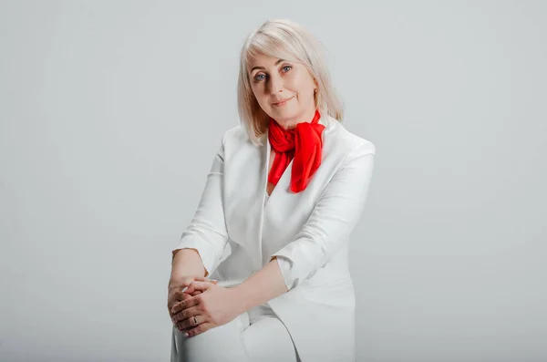
[[[301,122],[294,129],[284,129],[275,119],[270,119],[268,125],[268,140],[277,152],[268,181],[277,185],[285,169],[294,159],[291,174],[291,191],[300,192],[305,189],[308,179],[321,165],[323,140],[321,134],[325,126],[318,123],[321,115],[315,109],[311,122]]]

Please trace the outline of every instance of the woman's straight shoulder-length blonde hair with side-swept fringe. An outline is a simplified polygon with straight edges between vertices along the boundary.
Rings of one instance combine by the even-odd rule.
[[[249,60],[257,54],[302,63],[317,81],[315,106],[322,118],[329,115],[342,121],[344,107],[333,87],[323,44],[303,26],[291,20],[268,20],[247,37],[240,55],[238,111],[243,129],[254,144],[263,145],[260,138],[269,120],[254,97],[247,73]]]

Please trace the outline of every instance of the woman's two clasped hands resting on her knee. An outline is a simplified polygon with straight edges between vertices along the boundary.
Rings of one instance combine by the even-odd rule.
[[[173,325],[185,336],[197,336],[243,313],[232,288],[203,276],[187,276],[170,285],[167,306]]]

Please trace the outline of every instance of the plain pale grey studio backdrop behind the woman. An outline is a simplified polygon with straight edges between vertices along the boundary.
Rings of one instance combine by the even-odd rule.
[[[377,146],[358,361],[547,360],[544,1],[1,1],[0,360],[166,361],[245,36],[328,49]],[[332,331],[336,333],[335,330]]]

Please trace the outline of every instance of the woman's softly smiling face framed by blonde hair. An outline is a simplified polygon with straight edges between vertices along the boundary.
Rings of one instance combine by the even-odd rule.
[[[268,116],[288,128],[313,119],[317,83],[302,64],[258,55],[247,70],[254,97]]]

